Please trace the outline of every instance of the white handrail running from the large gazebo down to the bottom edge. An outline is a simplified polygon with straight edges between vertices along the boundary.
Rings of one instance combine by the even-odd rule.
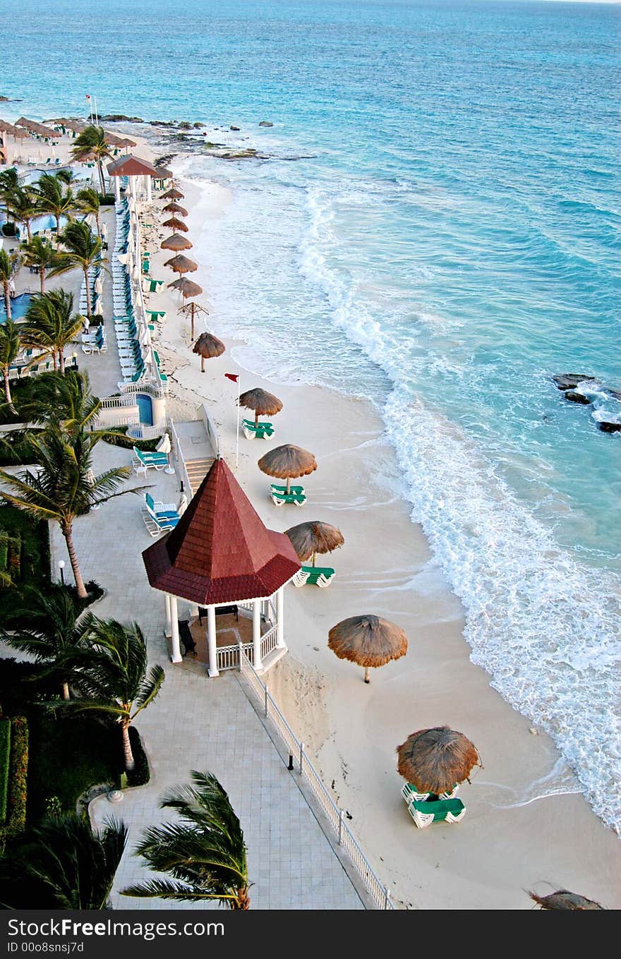
[[[267,635],[267,634],[266,634]],[[315,798],[323,809],[326,818],[338,837],[338,845],[342,846],[349,855],[357,874],[361,877],[372,900],[379,909],[394,909],[390,900],[390,890],[381,882],[366,855],[360,849],[357,838],[345,822],[343,810],[334,802],[328,788],[309,758],[304,743],[295,736],[287,719],[279,710],[265,683],[261,681],[255,668],[247,657],[242,643],[240,649],[240,673],[246,681],[249,690],[254,692],[256,699],[261,703],[265,718],[270,719],[285,745],[288,747],[289,762],[293,757],[297,760],[297,771],[303,775],[311,786]]]

